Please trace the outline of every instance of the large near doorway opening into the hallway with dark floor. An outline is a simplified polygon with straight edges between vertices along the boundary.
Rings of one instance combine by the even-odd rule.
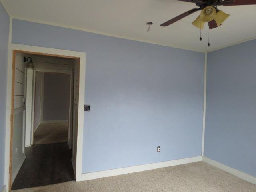
[[[9,190],[75,180],[80,58],[12,58]]]

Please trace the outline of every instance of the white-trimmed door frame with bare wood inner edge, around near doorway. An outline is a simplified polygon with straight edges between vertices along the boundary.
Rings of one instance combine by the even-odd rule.
[[[21,44],[8,44],[8,68],[7,68],[7,96],[6,96],[6,140],[5,140],[5,172],[4,183],[7,191],[11,189],[12,170],[12,129],[14,112],[14,69],[15,53],[22,52],[28,54],[56,56],[62,58],[75,58],[80,60],[79,68],[79,96],[78,96],[78,135],[77,135],[77,154],[76,154],[76,175],[75,180],[82,180],[82,148],[83,148],[83,129],[84,129],[84,94],[85,94],[85,67],[86,53],[69,50],[44,48],[38,46],[28,46]]]

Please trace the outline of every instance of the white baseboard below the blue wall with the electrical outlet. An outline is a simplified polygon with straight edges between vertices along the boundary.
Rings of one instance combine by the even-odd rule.
[[[141,172],[146,170],[176,166],[176,165],[193,163],[198,161],[202,161],[202,156],[171,160],[171,161],[165,161],[165,162],[158,162],[158,163],[151,163],[151,164],[144,164],[144,165],[138,165],[138,166],[131,166],[131,167],[125,167],[125,168],[118,168],[118,169],[112,169],[112,170],[105,170],[105,171],[99,171],[99,172],[83,173],[80,181]]]

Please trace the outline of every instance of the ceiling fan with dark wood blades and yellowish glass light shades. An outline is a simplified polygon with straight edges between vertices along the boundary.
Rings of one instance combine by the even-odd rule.
[[[190,14],[201,11],[200,16],[192,22],[194,26],[202,29],[204,27],[205,22],[208,22],[209,29],[216,28],[220,26],[229,15],[224,13],[221,10],[218,10],[217,6],[235,6],[235,5],[254,5],[256,4],[256,0],[176,0],[176,1],[184,1],[195,3],[198,8],[191,9],[185,13],[172,18],[161,24],[160,26],[169,26],[178,20],[189,16]]]

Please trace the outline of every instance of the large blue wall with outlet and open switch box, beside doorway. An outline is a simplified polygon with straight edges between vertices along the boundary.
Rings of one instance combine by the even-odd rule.
[[[86,52],[83,173],[201,155],[203,53],[21,20],[12,42]]]

